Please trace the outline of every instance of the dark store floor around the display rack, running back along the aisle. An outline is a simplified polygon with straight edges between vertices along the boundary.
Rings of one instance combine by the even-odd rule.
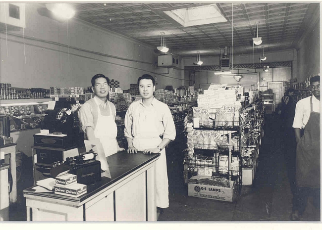
[[[283,128],[280,115],[266,116],[256,178],[252,186],[242,186],[236,203],[188,197],[186,185],[177,183],[183,181],[182,166],[168,159],[170,205],[159,221],[289,221],[295,155]],[[320,221],[310,200],[302,221]]]

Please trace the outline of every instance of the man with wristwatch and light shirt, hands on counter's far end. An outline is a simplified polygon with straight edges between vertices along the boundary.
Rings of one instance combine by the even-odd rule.
[[[138,79],[138,85],[142,99],[133,102],[126,112],[124,136],[128,153],[161,153],[156,162],[156,190],[157,207],[162,213],[163,208],[169,207],[164,147],[175,139],[175,126],[168,106],[153,96],[156,89],[154,78],[145,74]]]

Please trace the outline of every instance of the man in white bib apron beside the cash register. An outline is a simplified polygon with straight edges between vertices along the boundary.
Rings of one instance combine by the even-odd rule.
[[[95,93],[94,98],[81,106],[78,117],[85,139],[100,139],[107,157],[124,150],[124,148],[119,147],[116,140],[115,106],[107,100],[109,79],[103,74],[95,75],[92,78],[92,90]]]

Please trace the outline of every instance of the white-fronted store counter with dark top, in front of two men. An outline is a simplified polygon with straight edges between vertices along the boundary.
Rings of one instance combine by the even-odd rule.
[[[77,198],[27,188],[27,221],[157,221],[159,157],[126,151],[108,156],[111,179],[102,177]]]

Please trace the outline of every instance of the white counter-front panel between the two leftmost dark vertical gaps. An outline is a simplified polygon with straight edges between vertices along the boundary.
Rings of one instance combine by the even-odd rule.
[[[86,207],[85,218],[86,221],[114,221],[113,193],[97,200],[92,206]]]

